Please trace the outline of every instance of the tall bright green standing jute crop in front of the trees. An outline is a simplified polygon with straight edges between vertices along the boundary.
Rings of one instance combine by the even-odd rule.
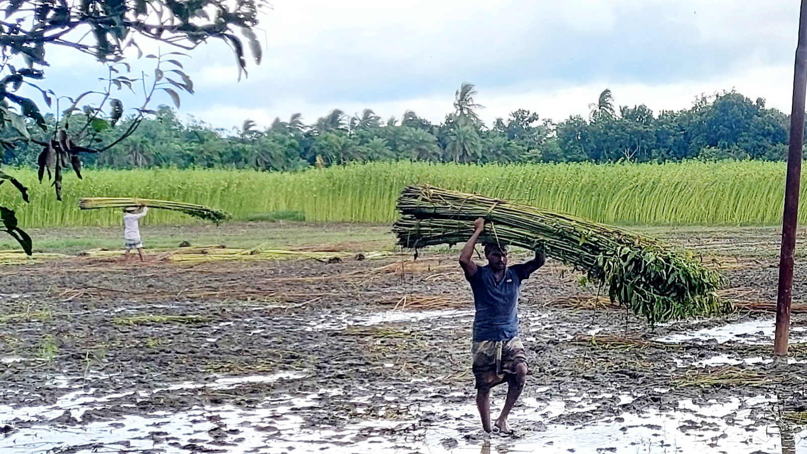
[[[220,208],[236,219],[306,221],[395,220],[395,200],[409,184],[501,197],[608,224],[776,225],[782,216],[784,162],[687,161],[665,164],[587,162],[485,166],[374,162],[297,172],[255,170],[93,170],[68,184],[64,202],[36,184],[36,171],[17,169],[31,204],[0,187],[26,226],[120,225],[113,210],[80,211],[82,197],[178,200]],[[807,187],[807,183],[802,187]],[[802,197],[807,204],[807,197]],[[807,206],[800,210],[807,221]],[[188,222],[155,210],[147,223]]]

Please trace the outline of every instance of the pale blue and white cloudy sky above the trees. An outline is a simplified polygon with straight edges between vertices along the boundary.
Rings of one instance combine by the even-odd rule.
[[[183,97],[183,119],[267,126],[295,112],[313,122],[333,108],[370,107],[383,118],[412,109],[441,121],[462,82],[476,84],[488,122],[517,108],[553,120],[585,114],[606,87],[617,104],[654,111],[732,88],[790,111],[795,0],[271,3],[257,32],[264,61],[250,61],[248,78],[238,82],[224,44],[191,53],[196,95]],[[100,74],[86,58],[55,58],[48,83],[60,95]]]

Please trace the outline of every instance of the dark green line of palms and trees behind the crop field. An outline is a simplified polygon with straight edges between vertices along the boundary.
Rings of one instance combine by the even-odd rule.
[[[91,122],[94,140],[108,141],[140,124],[131,136],[85,158],[86,166],[236,167],[299,170],[348,162],[666,162],[684,159],[781,160],[787,156],[789,118],[731,90],[700,96],[692,107],[654,114],[644,104],[629,107],[604,90],[587,117],[554,123],[527,109],[487,125],[479,118],[475,86],[462,84],[454,110],[440,124],[414,111],[383,120],[371,109],[349,116],[334,110],[306,124],[300,114],[277,118],[265,129],[245,120],[240,128],[213,128],[161,106],[146,119],[117,124]],[[76,114],[78,116],[78,114]],[[54,122],[52,117],[44,118]],[[13,132],[6,131],[7,134]],[[31,135],[39,133],[31,128]],[[44,140],[44,137],[43,137]],[[36,165],[41,149],[6,150],[4,162]]]

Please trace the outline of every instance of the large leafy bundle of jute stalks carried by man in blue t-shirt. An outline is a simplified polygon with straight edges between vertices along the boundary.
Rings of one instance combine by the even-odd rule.
[[[398,200],[403,215],[393,231],[401,246],[419,248],[466,242],[474,220],[486,220],[481,241],[529,250],[586,271],[608,296],[650,324],[721,313],[720,274],[690,251],[595,221],[437,187],[411,186]]]

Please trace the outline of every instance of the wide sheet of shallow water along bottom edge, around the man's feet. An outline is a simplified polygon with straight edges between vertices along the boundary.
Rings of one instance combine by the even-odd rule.
[[[276,376],[281,374],[276,374]],[[219,385],[236,385],[276,380],[276,376],[245,376],[217,380]],[[286,376],[293,376],[286,375]],[[435,390],[434,392],[437,392]],[[400,421],[378,419],[349,423],[344,427],[310,427],[303,420],[303,411],[327,413],[320,406],[324,396],[341,393],[337,389],[321,389],[306,397],[273,397],[255,408],[212,406],[176,413],[157,412],[147,416],[130,415],[115,421],[98,421],[81,426],[34,426],[22,428],[0,439],[0,452],[8,454],[44,454],[48,450],[86,443],[105,443],[107,449],[161,449],[166,454],[188,452],[189,443],[204,449],[225,449],[226,452],[372,452],[373,454],[430,452],[456,454],[485,453],[478,416],[472,402],[460,406],[440,406],[434,401],[416,401],[409,405],[408,416]],[[421,393],[424,399],[429,393]],[[758,397],[741,401],[732,398],[697,406],[692,400],[679,401],[677,410],[659,411],[649,408],[642,414],[623,413],[598,418],[593,422],[566,425],[551,422],[560,415],[582,414],[599,407],[602,398],[613,395],[589,395],[575,391],[568,400],[540,402],[528,397],[513,410],[511,423],[524,435],[521,439],[493,435],[491,446],[500,452],[542,452],[575,454],[617,452],[617,454],[660,454],[666,452],[699,452],[700,454],[751,454],[780,452],[780,437],[776,427],[756,425],[749,408],[765,409],[776,401],[774,397]],[[125,394],[119,394],[125,395]],[[63,397],[73,406],[108,401],[115,396]],[[632,401],[632,396],[619,396],[619,404]],[[500,399],[499,399],[500,400]],[[391,406],[395,406],[392,399]],[[571,405],[569,401],[573,402]],[[494,402],[501,405],[500,401]],[[745,408],[749,407],[749,408]],[[396,407],[400,408],[400,407]],[[742,410],[745,408],[744,410]],[[0,407],[0,423],[7,421]],[[36,413],[28,408],[18,414]],[[63,410],[48,409],[58,416]],[[494,416],[495,412],[494,410]],[[41,415],[41,414],[40,414]],[[54,417],[55,417],[54,416]],[[75,414],[73,414],[75,416]],[[429,418],[424,418],[428,416]],[[437,417],[436,417],[437,416]],[[729,417],[731,423],[725,421]],[[420,420],[436,421],[428,427]],[[537,428],[531,431],[530,428]],[[154,432],[159,432],[153,435]],[[474,435],[467,441],[465,435]],[[798,442],[807,431],[796,435]],[[115,444],[118,443],[118,444]],[[172,444],[169,444],[172,443]],[[229,444],[223,444],[229,443]],[[184,448],[182,448],[184,447]],[[613,449],[612,449],[613,448]],[[89,453],[91,448],[79,450]]]

